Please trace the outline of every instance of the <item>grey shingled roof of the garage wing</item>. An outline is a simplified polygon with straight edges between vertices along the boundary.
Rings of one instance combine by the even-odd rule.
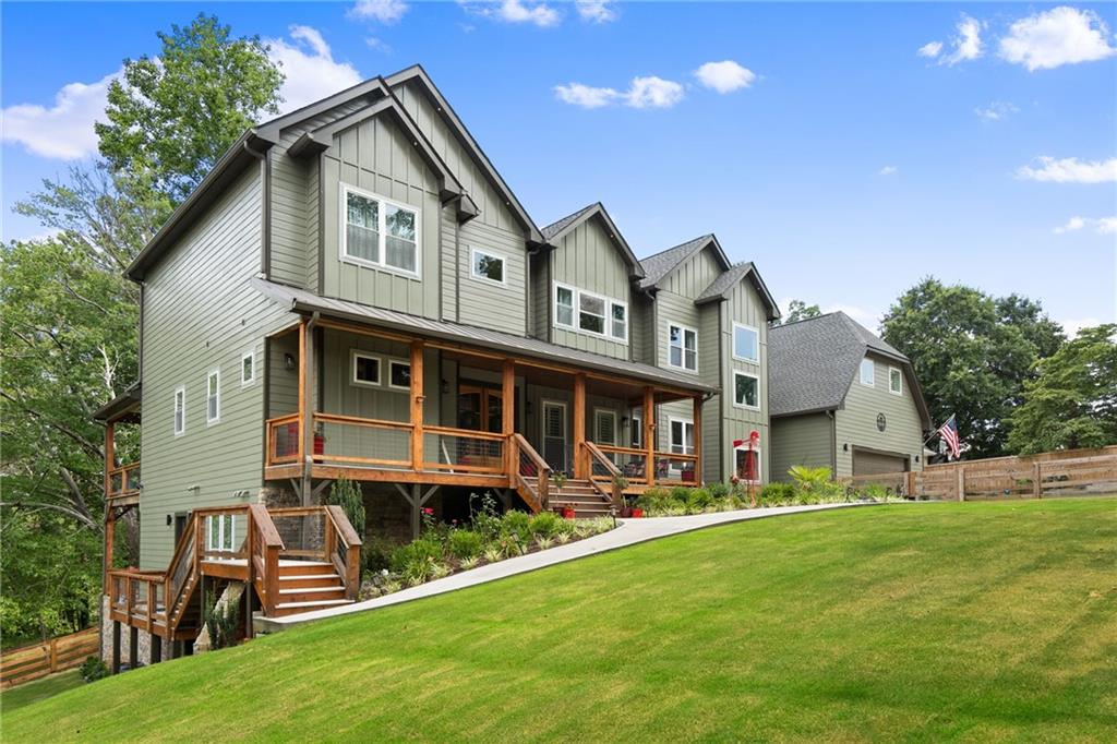
[[[846,402],[869,352],[904,370],[924,428],[930,416],[907,356],[844,313],[830,313],[768,331],[768,409],[772,417],[831,411]]]

